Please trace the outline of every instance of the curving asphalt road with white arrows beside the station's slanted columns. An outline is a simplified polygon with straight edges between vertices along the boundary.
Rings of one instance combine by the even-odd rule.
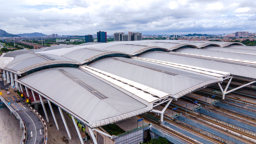
[[[4,86],[4,81],[0,81],[0,88],[2,91],[2,97],[10,102],[10,106],[20,115],[27,127],[26,144],[43,144],[45,140],[45,130],[41,119],[28,107],[26,102],[11,89],[4,90],[9,85]],[[20,102],[16,102],[19,99]],[[41,132],[40,132],[41,130]]]

